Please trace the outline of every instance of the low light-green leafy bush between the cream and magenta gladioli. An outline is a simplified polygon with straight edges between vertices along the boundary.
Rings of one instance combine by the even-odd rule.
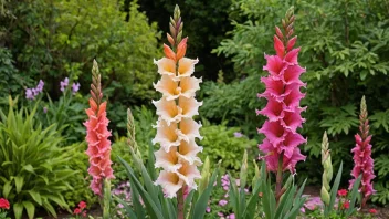
[[[204,160],[208,156],[211,165],[215,166],[221,159],[221,169],[238,176],[244,150],[249,149],[249,160],[256,159],[259,155],[255,140],[251,140],[246,136],[240,136],[239,132],[240,128],[228,128],[225,123],[210,125],[209,122],[203,121],[203,126],[200,128],[203,139],[199,144],[203,147],[202,153],[200,153],[201,160]],[[236,133],[236,137],[234,133]]]

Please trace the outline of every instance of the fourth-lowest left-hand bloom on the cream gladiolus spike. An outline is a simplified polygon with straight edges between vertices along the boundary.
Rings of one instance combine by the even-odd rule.
[[[159,101],[153,101],[153,104],[157,108],[157,115],[165,119],[168,125],[180,119],[180,108],[177,107],[175,101],[168,101],[162,97]]]

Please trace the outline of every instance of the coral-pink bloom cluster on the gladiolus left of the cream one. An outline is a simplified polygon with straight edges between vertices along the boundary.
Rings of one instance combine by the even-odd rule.
[[[88,147],[86,154],[90,156],[88,173],[93,177],[91,189],[96,195],[102,196],[102,185],[105,178],[115,178],[111,168],[111,132],[108,131],[108,118],[106,116],[106,105],[104,102],[97,106],[96,102],[90,98],[91,107],[86,109],[88,121],[86,126],[86,142]]]

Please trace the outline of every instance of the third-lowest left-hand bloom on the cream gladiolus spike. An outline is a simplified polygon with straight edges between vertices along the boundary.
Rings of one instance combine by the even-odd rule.
[[[177,129],[177,123],[168,125],[166,121],[160,119],[155,127],[157,128],[157,135],[153,139],[153,144],[159,143],[165,152],[169,152],[170,147],[180,145],[182,134]]]

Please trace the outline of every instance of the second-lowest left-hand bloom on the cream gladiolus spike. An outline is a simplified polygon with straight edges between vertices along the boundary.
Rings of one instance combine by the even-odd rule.
[[[156,156],[156,168],[164,168],[167,171],[177,171],[182,165],[178,163],[177,148],[172,147],[167,153],[164,148],[154,153]]]

